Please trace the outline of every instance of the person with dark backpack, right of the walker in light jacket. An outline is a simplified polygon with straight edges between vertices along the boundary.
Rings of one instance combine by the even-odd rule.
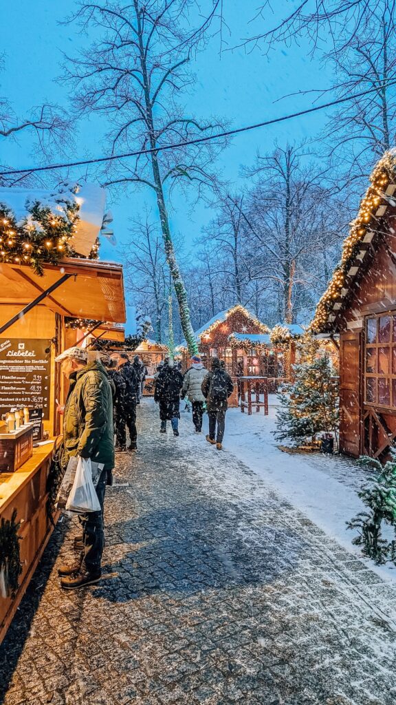
[[[221,369],[218,357],[214,357],[211,361],[211,372],[206,374],[202,382],[202,394],[206,399],[209,417],[209,434],[206,436],[206,441],[213,445],[216,443],[217,450],[221,450],[223,447],[225,412],[228,408],[228,397],[233,393],[233,389],[234,385],[230,375],[225,372],[225,369]]]

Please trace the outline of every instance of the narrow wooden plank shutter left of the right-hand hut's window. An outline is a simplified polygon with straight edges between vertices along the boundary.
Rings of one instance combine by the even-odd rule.
[[[340,336],[340,450],[361,453],[361,333]]]

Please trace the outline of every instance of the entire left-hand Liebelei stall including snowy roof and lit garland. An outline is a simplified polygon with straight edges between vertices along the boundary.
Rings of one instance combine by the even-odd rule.
[[[125,321],[122,266],[97,259],[103,190],[16,191],[0,190],[0,642],[57,518],[54,359]]]

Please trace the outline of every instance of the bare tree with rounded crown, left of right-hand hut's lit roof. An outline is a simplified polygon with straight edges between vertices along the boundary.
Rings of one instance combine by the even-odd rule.
[[[326,283],[323,252],[338,254],[342,218],[347,221],[323,185],[323,170],[302,166],[303,158],[302,147],[277,147],[247,170],[258,177],[245,212],[252,235],[252,279],[272,281],[279,318],[287,323],[313,307],[316,290]]]

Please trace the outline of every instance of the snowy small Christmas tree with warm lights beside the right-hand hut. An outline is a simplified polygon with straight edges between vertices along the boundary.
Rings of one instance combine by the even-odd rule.
[[[290,439],[296,445],[313,441],[316,434],[326,431],[337,435],[338,389],[328,353],[315,355],[316,341],[309,343],[302,360],[293,369],[295,381],[287,394],[280,394],[278,411],[279,440]]]

